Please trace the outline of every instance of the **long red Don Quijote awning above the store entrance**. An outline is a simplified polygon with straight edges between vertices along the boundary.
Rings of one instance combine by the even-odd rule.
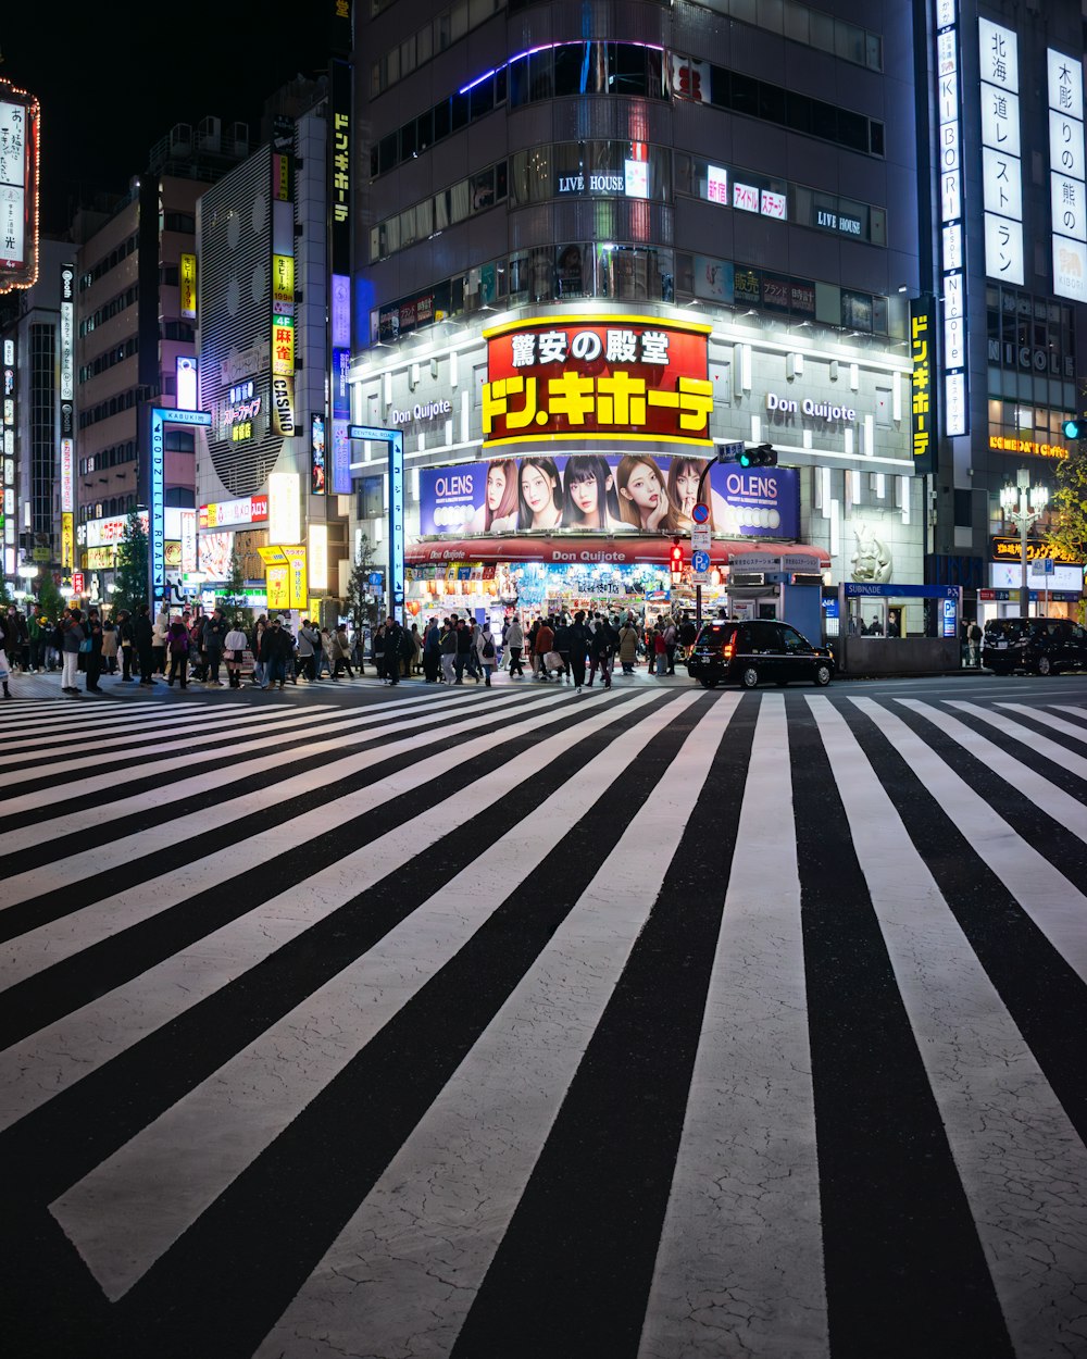
[[[508,538],[442,538],[433,542],[413,542],[404,549],[404,560],[409,567],[438,567],[459,563],[514,563],[545,561],[556,565],[572,563],[610,561],[616,565],[667,567],[671,561],[670,537],[602,537],[599,534],[569,534],[553,537],[508,537]],[[690,554],[690,540],[685,541],[683,556]],[[742,565],[745,556],[807,556],[811,569],[821,571],[830,565],[830,554],[822,548],[803,542],[753,542],[736,538],[715,538],[709,552],[715,567]],[[760,568],[761,569],[761,568]],[[795,568],[794,568],[795,569]]]

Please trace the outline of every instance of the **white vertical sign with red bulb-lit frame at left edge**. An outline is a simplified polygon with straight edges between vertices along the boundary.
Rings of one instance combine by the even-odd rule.
[[[38,101],[0,80],[0,292],[38,279]]]

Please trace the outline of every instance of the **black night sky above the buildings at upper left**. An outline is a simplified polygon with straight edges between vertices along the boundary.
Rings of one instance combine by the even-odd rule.
[[[0,79],[42,106],[42,231],[99,190],[124,193],[177,122],[207,114],[260,136],[265,99],[327,67],[323,4],[4,7]]]

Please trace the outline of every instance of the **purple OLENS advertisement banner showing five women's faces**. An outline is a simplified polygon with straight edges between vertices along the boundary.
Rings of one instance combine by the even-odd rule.
[[[689,533],[704,458],[629,454],[492,458],[420,467],[425,537],[520,533]],[[796,538],[800,482],[792,467],[713,463],[711,533]]]

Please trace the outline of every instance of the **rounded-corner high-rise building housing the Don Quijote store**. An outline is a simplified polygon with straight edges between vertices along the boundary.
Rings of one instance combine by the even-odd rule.
[[[721,444],[777,462],[702,484],[709,605],[833,632],[798,578],[924,580],[909,5],[356,22],[352,419],[404,435],[410,612],[693,602]],[[382,552],[385,448],[351,463]]]

